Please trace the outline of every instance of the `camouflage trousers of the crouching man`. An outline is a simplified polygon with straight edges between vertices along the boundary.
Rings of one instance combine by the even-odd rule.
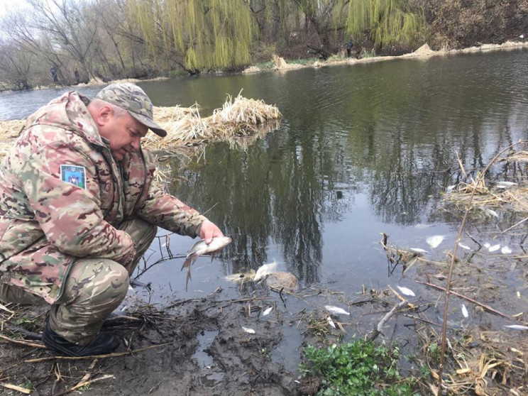
[[[50,326],[63,338],[87,345],[99,333],[104,320],[126,297],[128,278],[156,236],[158,227],[141,219],[123,222],[119,229],[130,234],[137,255],[130,268],[106,258],[79,258],[62,285],[60,299],[50,307]],[[0,283],[0,300],[21,304],[45,304],[44,299],[20,287]]]

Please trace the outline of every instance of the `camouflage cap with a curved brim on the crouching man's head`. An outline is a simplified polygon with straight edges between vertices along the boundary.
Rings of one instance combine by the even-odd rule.
[[[96,98],[127,110],[134,119],[148,126],[156,135],[167,136],[167,131],[154,122],[152,102],[136,84],[131,82],[110,84],[101,89]]]

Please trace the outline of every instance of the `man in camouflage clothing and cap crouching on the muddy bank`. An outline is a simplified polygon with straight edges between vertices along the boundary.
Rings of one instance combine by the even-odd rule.
[[[152,185],[140,139],[153,105],[135,84],[90,101],[68,92],[26,121],[0,165],[0,300],[51,304],[43,342],[70,356],[110,353],[99,333],[157,226],[206,243],[223,236]]]

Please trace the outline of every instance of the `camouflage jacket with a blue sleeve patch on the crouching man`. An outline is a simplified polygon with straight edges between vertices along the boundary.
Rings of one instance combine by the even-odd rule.
[[[38,109],[0,165],[0,281],[50,304],[76,258],[133,260],[123,220],[194,237],[206,219],[152,185],[143,150],[117,162],[88,103],[69,92]]]

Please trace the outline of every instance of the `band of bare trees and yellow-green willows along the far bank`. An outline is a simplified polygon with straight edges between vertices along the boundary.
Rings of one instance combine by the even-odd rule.
[[[27,0],[0,21],[0,89],[241,71],[504,43],[528,0]],[[522,40],[522,39],[521,39]],[[56,70],[56,80],[50,68]],[[77,72],[76,72],[77,70]]]

